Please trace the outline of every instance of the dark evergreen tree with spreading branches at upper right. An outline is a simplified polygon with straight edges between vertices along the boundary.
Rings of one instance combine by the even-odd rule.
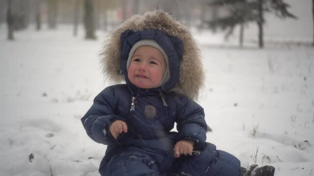
[[[244,24],[247,22],[257,22],[258,26],[258,46],[264,47],[263,24],[265,22],[264,12],[274,13],[277,17],[296,19],[292,13],[288,12],[289,4],[283,0],[212,0],[210,6],[228,7],[229,15],[224,18],[208,21],[210,28],[220,27],[228,29],[226,36],[232,34],[236,25],[240,25],[240,45],[243,43]]]

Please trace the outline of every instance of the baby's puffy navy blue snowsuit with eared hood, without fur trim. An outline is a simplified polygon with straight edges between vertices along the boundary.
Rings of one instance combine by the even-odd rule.
[[[127,78],[126,60],[133,44],[155,40],[169,58],[170,80],[162,87],[141,89]],[[206,142],[204,111],[185,95],[169,91],[179,79],[183,44],[159,30],[121,34],[121,69],[126,84],[105,88],[81,119],[88,136],[108,145],[101,161],[101,176],[239,176],[240,162],[231,154]],[[122,120],[128,132],[117,139],[109,132]],[[170,132],[174,123],[178,132]],[[195,142],[193,154],[174,158],[177,141]]]

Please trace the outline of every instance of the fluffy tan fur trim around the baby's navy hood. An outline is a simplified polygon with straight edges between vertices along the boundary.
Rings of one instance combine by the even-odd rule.
[[[126,30],[137,32],[144,29],[157,29],[182,41],[183,56],[180,61],[179,79],[171,91],[196,99],[204,83],[200,50],[188,29],[162,10],[146,12],[143,16],[134,15],[110,33],[107,41],[105,41],[101,58],[106,78],[114,83],[125,81],[124,75],[121,74],[120,55],[122,46],[120,36]]]

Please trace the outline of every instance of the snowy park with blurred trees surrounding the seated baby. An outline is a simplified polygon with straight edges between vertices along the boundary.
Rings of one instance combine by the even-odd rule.
[[[0,175],[99,176],[107,146],[80,119],[111,85],[103,41],[155,9],[200,48],[207,141],[243,167],[314,175],[313,1],[0,0]]]

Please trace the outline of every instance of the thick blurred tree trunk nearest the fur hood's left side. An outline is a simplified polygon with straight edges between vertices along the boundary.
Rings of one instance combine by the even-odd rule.
[[[85,30],[86,30],[86,39],[96,39],[95,36],[95,20],[94,20],[94,1],[93,0],[85,0]]]

